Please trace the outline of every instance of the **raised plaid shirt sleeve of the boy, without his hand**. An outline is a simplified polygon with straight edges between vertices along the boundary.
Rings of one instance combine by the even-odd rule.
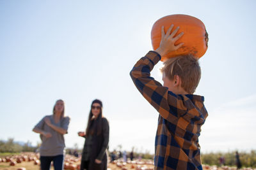
[[[186,113],[186,106],[182,96],[168,91],[161,83],[150,76],[150,71],[161,60],[161,56],[154,51],[150,51],[134,65],[131,70],[131,78],[134,85],[143,97],[147,99],[161,115],[170,121],[177,118],[180,114]]]

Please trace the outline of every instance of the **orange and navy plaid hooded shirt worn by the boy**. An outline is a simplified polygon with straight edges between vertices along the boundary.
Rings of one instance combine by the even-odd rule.
[[[177,95],[150,77],[161,56],[150,51],[131,71],[143,97],[159,112],[155,142],[155,169],[202,169],[198,136],[207,117],[204,97]]]

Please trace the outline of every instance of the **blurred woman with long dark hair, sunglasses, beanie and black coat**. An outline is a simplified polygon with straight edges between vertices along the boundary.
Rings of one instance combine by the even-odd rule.
[[[102,102],[95,99],[92,102],[86,132],[78,132],[85,138],[81,170],[107,169],[106,149],[109,142],[108,120],[102,116]]]

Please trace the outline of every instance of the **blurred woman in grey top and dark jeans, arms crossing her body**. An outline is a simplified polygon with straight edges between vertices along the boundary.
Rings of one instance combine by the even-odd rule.
[[[53,114],[45,116],[35,125],[33,131],[40,134],[40,166],[42,170],[49,170],[51,162],[55,170],[63,169],[64,134],[68,132],[69,117],[65,117],[65,107],[62,100],[56,101]]]

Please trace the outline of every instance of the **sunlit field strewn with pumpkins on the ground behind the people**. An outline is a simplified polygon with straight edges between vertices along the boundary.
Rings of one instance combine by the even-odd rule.
[[[38,153],[20,153],[17,155],[10,155],[6,157],[0,157],[0,169],[3,170],[35,170],[40,169],[40,160]],[[65,155],[64,169],[79,170],[80,169],[80,158],[72,155]],[[51,170],[53,170],[53,166]],[[122,162],[121,159],[114,160],[108,163],[108,170],[153,170],[153,160],[128,160]],[[203,165],[203,169],[211,170],[235,170],[236,167],[217,167]],[[244,170],[255,170],[251,168],[244,168]]]

